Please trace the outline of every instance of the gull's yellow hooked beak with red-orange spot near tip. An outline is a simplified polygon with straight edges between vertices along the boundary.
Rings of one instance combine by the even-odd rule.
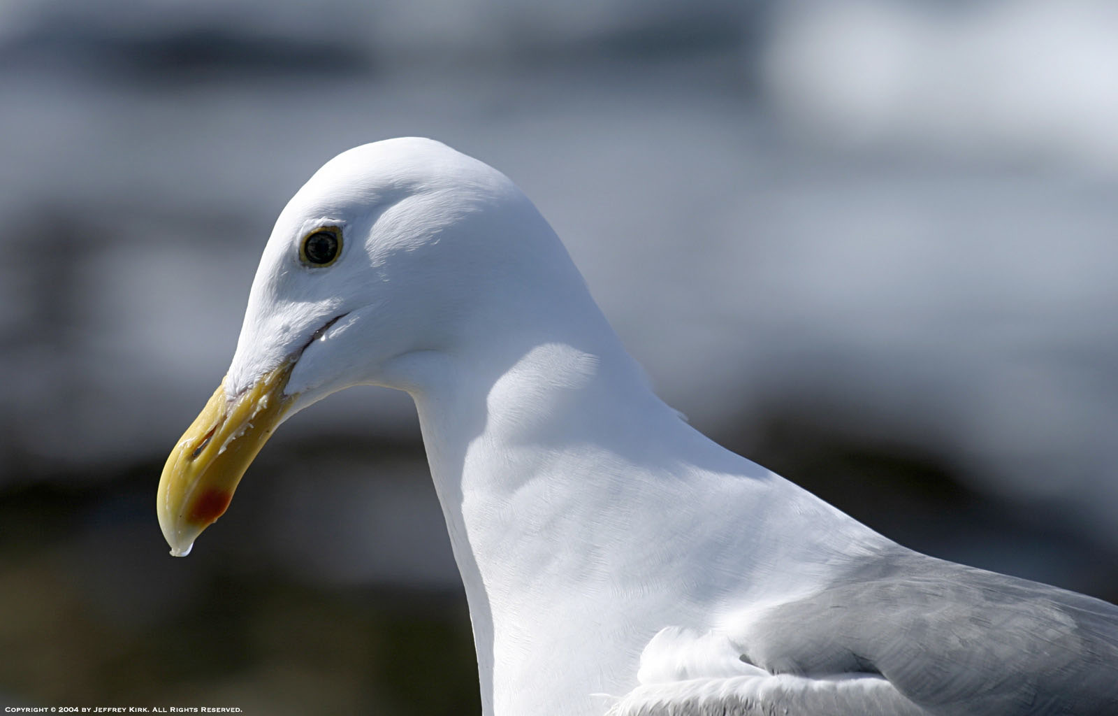
[[[294,360],[229,397],[225,381],[171,451],[159,479],[155,509],[171,554],[190,554],[195,539],[225,514],[241,475],[294,399],[284,387]]]

